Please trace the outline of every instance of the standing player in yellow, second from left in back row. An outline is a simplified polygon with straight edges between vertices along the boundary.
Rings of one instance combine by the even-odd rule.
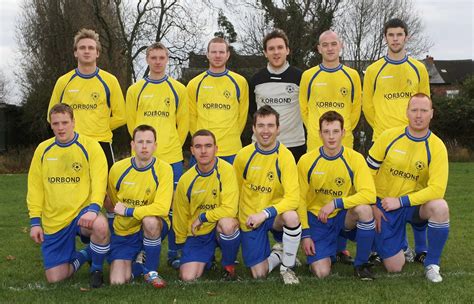
[[[150,73],[127,91],[127,127],[130,135],[142,124],[156,130],[158,148],[155,156],[171,165],[176,187],[183,174],[182,146],[189,131],[189,110],[186,88],[165,74],[168,60],[168,49],[162,43],[155,42],[147,48]],[[168,234],[168,263],[179,267],[172,229]]]

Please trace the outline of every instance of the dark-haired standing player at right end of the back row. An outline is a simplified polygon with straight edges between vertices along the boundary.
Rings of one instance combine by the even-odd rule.
[[[364,77],[362,105],[365,118],[374,131],[373,141],[387,129],[407,125],[405,113],[412,95],[420,92],[430,96],[426,67],[406,54],[408,27],[405,22],[391,19],[383,31],[388,53],[371,64]],[[415,261],[423,263],[427,250],[426,227],[412,225],[412,228]]]

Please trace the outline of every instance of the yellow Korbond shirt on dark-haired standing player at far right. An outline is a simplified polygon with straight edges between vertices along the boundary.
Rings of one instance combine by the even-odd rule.
[[[383,131],[408,124],[406,110],[412,95],[430,96],[428,72],[411,57],[396,61],[385,56],[367,68],[363,93],[362,109],[375,141]]]

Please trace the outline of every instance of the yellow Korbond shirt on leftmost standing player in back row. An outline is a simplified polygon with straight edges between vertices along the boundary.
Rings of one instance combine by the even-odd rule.
[[[49,111],[57,103],[70,105],[76,131],[97,141],[112,142],[112,130],[126,123],[120,84],[99,68],[88,75],[74,69],[58,79],[49,101],[48,121]]]

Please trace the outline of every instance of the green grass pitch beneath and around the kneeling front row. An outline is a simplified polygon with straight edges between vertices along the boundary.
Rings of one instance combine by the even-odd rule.
[[[25,203],[26,175],[0,175],[0,302],[50,303],[100,301],[102,303],[472,303],[474,301],[474,163],[452,163],[446,199],[451,208],[451,234],[442,258],[444,281],[432,284],[421,265],[407,265],[401,274],[388,275],[375,268],[377,279],[360,282],[350,266],[335,265],[333,274],[318,280],[306,267],[297,269],[298,286],[284,286],[277,272],[267,280],[250,279],[238,267],[243,282],[220,282],[220,271],[207,273],[193,284],[178,281],[177,273],[162,259],[161,275],[168,287],[155,290],[141,280],[130,285],[88,289],[88,272],[60,284],[47,284],[39,246],[29,238]],[[411,233],[409,233],[410,235]],[[164,242],[166,247],[166,242]],[[162,252],[166,252],[164,250]],[[353,244],[349,249],[354,252]],[[107,272],[107,270],[106,270]],[[153,298],[152,298],[153,297]]]

